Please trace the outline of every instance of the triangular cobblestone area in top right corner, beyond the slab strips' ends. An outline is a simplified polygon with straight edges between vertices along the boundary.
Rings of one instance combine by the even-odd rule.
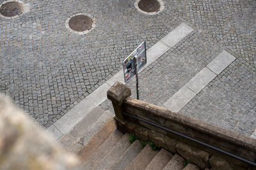
[[[255,0],[174,0],[170,8],[256,66]]]

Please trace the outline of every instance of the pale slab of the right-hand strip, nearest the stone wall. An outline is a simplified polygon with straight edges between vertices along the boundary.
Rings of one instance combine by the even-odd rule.
[[[190,90],[188,87],[183,86],[178,92],[176,92],[166,103],[164,107],[168,110],[179,112],[193,97],[196,93]]]

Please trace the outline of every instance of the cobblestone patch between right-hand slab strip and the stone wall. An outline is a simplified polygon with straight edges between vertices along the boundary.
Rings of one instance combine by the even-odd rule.
[[[251,136],[256,128],[256,71],[235,60],[180,113]]]

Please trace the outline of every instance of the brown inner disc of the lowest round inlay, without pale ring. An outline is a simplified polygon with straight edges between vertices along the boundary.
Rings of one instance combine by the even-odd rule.
[[[68,25],[77,32],[83,32],[92,29],[93,20],[86,15],[76,15],[70,18]]]

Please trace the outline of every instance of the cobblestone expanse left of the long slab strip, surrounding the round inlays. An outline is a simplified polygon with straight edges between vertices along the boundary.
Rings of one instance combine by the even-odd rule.
[[[150,47],[180,24],[168,11],[143,15],[133,1],[24,3],[29,13],[0,18],[0,89],[45,127],[115,74],[141,41]],[[86,36],[65,28],[67,17],[80,12],[96,19]]]

